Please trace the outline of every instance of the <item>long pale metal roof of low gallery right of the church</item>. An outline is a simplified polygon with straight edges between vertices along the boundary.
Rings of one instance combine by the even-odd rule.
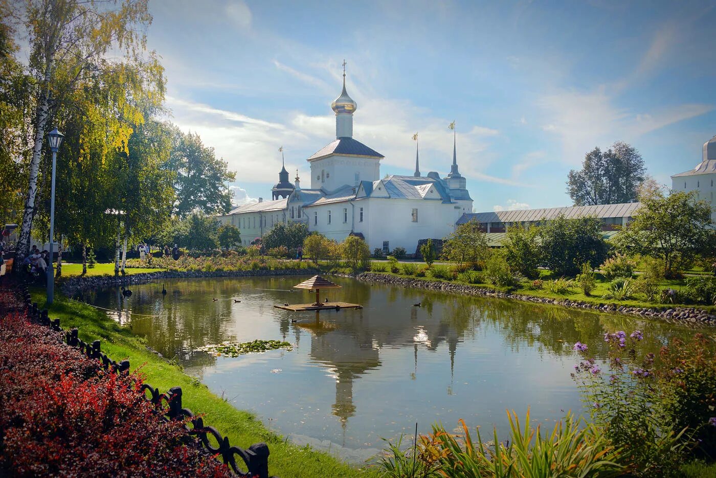
[[[550,220],[558,215],[565,218],[630,218],[641,203],[599,204],[591,206],[569,206],[566,208],[524,209],[512,211],[490,211],[488,213],[466,213],[458,224],[476,220],[478,223],[523,223]]]

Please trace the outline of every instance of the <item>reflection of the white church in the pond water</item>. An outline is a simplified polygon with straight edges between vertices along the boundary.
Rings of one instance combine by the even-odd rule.
[[[352,300],[361,299],[360,302],[367,305],[370,296],[369,291],[366,292],[365,297],[354,296]],[[466,332],[468,323],[470,331],[474,326],[471,318],[475,311],[468,301],[460,307],[455,298],[443,298],[447,302],[440,301],[440,312],[432,313],[432,300],[428,298],[423,299],[421,308],[405,308],[404,300],[395,301],[395,297],[387,296],[387,301],[379,302],[380,296],[382,294],[372,296],[370,306],[363,309],[338,314],[316,312],[315,319],[306,318],[298,323],[289,323],[288,318],[281,321],[284,339],[292,331],[294,340],[300,343],[306,340],[306,333],[310,334],[311,359],[324,366],[336,381],[332,414],[339,418],[344,430],[348,419],[356,413],[354,383],[362,375],[387,365],[381,361],[382,348],[413,348],[415,364],[410,375],[415,379],[418,351],[438,351],[447,344],[452,379],[458,343],[463,341],[465,333],[470,333]],[[390,317],[390,321],[384,320],[385,317]],[[452,393],[451,387],[446,393]]]

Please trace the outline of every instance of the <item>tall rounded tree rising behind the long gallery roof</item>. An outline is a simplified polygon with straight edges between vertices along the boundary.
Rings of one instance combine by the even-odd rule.
[[[577,206],[634,203],[645,171],[642,155],[627,143],[615,142],[605,152],[595,147],[581,170],[569,172],[567,192]]]

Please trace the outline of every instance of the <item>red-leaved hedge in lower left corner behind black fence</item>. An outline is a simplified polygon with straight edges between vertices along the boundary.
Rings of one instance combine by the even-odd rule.
[[[101,371],[61,334],[0,319],[0,469],[11,476],[229,477],[183,421],[160,421],[137,376]]]

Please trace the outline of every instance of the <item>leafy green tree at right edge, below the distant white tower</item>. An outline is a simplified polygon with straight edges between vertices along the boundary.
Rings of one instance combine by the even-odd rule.
[[[714,241],[711,208],[695,192],[655,191],[641,198],[632,222],[614,238],[616,248],[664,261],[664,275],[676,276]]]

